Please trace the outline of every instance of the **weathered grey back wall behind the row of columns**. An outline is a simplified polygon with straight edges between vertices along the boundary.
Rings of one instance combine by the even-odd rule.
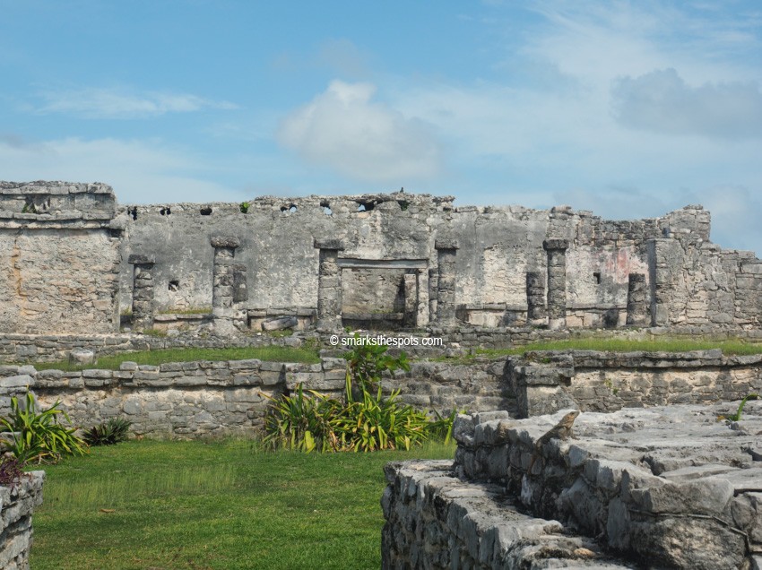
[[[666,240],[670,245],[692,240],[706,251],[711,249],[708,214],[697,207],[654,220],[608,221],[568,207],[550,212],[514,206],[454,207],[452,200],[425,194],[263,197],[251,201],[246,213],[229,203],[127,206],[123,247],[126,254],[150,249],[156,255],[156,302],[161,310],[207,307],[212,273],[208,237],[221,231],[235,235],[241,239],[239,263],[246,264],[251,281],[247,305],[267,309],[316,307],[315,239],[340,240],[345,247],[342,258],[424,262],[435,275],[436,240],[455,240],[459,316],[471,324],[498,326],[526,324],[526,273],[544,275],[543,241],[565,239],[567,324],[607,328],[626,324],[630,273],[645,276],[650,296],[649,267],[659,258],[649,256],[649,240]],[[360,205],[365,210],[358,211]],[[688,263],[682,257],[678,261],[681,266]],[[342,285],[345,312],[399,313],[401,270],[343,272],[347,273]],[[123,267],[123,304],[131,295],[127,273]],[[691,279],[693,288],[706,285]],[[671,288],[680,283],[669,281],[663,287],[669,298]],[[712,313],[715,308],[706,310]],[[702,322],[717,322],[709,313]],[[427,316],[433,320],[436,315],[427,311]],[[674,313],[664,324],[679,319]]]

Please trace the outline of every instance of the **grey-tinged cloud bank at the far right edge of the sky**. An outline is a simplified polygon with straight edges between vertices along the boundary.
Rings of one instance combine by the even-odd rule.
[[[611,95],[621,125],[666,134],[762,136],[762,92],[753,83],[691,87],[665,69],[621,78]]]

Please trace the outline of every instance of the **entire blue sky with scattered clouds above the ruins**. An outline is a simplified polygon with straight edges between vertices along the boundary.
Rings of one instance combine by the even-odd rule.
[[[688,203],[762,253],[762,4],[0,0],[0,179]]]

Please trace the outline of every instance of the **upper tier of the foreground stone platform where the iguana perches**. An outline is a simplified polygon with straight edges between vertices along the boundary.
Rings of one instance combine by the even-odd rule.
[[[566,410],[461,416],[455,474],[649,567],[746,568],[762,547],[762,402],[718,419],[738,403],[585,412],[573,438],[539,449]]]

